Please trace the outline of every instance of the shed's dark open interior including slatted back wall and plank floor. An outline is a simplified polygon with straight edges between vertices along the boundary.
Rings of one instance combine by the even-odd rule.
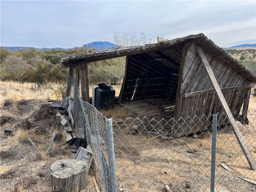
[[[173,117],[180,53],[179,47],[170,47],[127,56],[123,94],[119,101],[142,116]]]

